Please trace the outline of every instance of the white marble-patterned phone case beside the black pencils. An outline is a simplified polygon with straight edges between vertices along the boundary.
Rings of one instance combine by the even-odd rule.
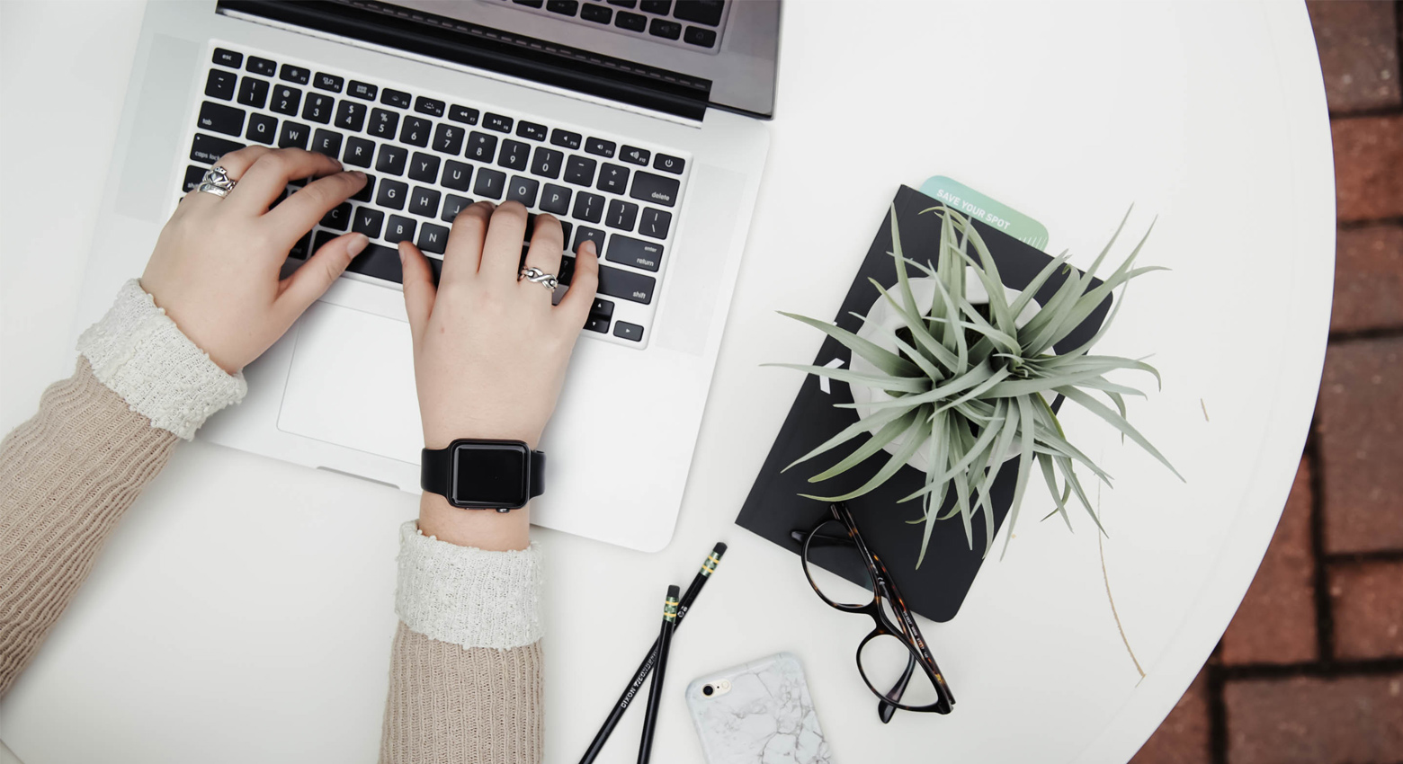
[[[728,693],[702,694],[721,680],[731,683]],[[793,653],[697,678],[687,685],[687,707],[707,764],[832,763],[804,667]]]

